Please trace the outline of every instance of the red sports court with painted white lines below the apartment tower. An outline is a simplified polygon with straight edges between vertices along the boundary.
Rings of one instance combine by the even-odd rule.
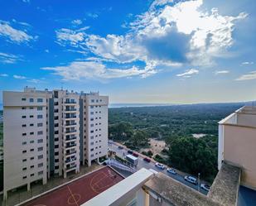
[[[102,193],[109,187],[123,180],[109,166],[96,170],[89,175],[85,175],[79,180],[55,189],[48,194],[33,199],[23,206],[79,206],[89,199],[94,198],[97,194]]]

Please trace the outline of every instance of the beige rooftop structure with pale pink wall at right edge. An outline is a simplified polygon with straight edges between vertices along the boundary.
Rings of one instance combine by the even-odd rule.
[[[242,169],[241,184],[256,189],[256,107],[243,107],[219,122],[218,166]]]

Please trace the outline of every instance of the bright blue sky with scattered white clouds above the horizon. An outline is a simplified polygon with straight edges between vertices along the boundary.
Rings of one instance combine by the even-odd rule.
[[[254,0],[0,1],[0,93],[31,86],[99,91],[111,103],[253,100],[255,7]]]

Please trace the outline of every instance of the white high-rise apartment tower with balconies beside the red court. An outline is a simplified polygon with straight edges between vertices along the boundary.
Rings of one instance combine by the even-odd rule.
[[[3,92],[4,197],[108,153],[109,97],[66,90]]]

